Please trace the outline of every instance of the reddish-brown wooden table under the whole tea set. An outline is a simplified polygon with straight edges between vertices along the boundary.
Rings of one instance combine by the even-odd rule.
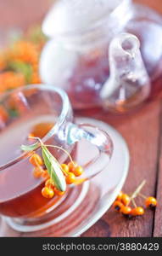
[[[20,2],[26,1],[12,1],[14,8],[16,8],[15,4],[19,8],[18,3]],[[40,0],[32,3],[38,2],[43,3]],[[162,12],[161,0],[138,0],[137,2],[149,4]],[[8,0],[0,2],[3,14],[5,14],[8,4],[11,4]],[[44,9],[42,15],[43,12]],[[37,20],[41,19],[42,15],[37,15]],[[8,16],[6,15],[6,17]],[[33,17],[31,12],[31,21],[34,19]],[[16,20],[15,24],[18,21]],[[5,23],[4,15],[1,22]],[[25,24],[24,22],[23,24]],[[160,96],[136,113],[125,117],[112,118],[105,113],[94,113],[91,114],[91,117],[114,125],[126,138],[131,153],[131,166],[123,190],[129,194],[143,179],[146,179],[147,184],[142,190],[143,194],[157,197],[159,206],[155,211],[147,211],[143,217],[134,220],[126,220],[110,209],[82,236],[162,236],[162,102]],[[137,199],[137,204],[140,203],[141,201]]]

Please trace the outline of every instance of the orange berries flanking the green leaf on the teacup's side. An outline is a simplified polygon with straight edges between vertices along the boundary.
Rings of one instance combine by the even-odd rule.
[[[46,179],[45,186],[42,189],[42,196],[46,198],[53,198],[54,195],[64,195],[65,192],[56,189],[53,180],[49,176],[47,170],[43,169],[44,163],[42,157],[39,154],[32,154],[30,157],[30,163],[32,166],[34,166],[34,177],[43,177]],[[60,166],[62,172],[64,173],[67,184],[75,183],[75,177],[79,177],[83,173],[83,168],[78,166],[75,162],[70,162],[68,165],[61,164]]]

